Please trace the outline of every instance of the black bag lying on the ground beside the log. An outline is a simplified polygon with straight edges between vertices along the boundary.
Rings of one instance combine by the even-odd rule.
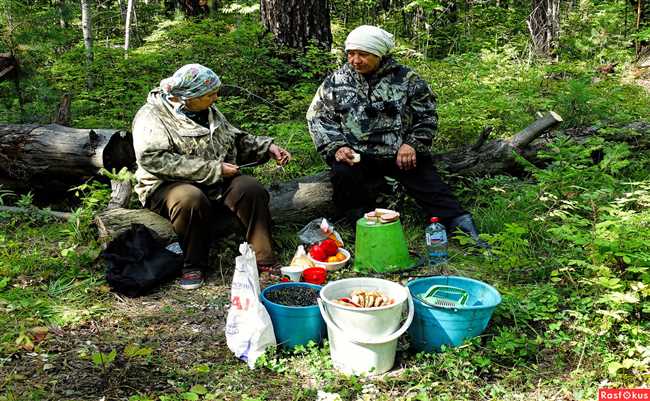
[[[137,297],[178,275],[182,255],[165,249],[155,235],[134,223],[108,244],[101,255],[108,264],[106,281],[113,291]]]

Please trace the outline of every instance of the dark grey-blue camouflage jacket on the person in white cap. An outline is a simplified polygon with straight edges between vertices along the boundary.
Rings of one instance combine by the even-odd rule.
[[[346,63],[325,79],[307,112],[316,150],[327,163],[342,146],[380,158],[396,157],[403,143],[430,153],[437,120],[427,83],[392,58],[368,78]]]

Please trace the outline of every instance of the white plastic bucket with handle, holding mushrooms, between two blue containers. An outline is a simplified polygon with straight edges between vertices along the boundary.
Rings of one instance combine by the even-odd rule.
[[[375,312],[378,312],[378,309],[382,309],[381,307],[372,309],[348,308],[343,305],[331,303],[332,298],[328,299],[323,296],[324,292],[327,293],[327,291],[323,291],[327,286],[321,289],[321,299],[318,300],[318,307],[320,308],[323,319],[327,324],[327,334],[330,342],[330,356],[332,357],[334,367],[344,373],[354,375],[377,375],[385,373],[389,371],[395,363],[397,339],[404,334],[413,321],[413,299],[406,288],[391,281],[374,278],[355,278],[341,281],[348,280],[354,280],[354,288],[365,288],[369,290],[375,289],[386,294],[386,287],[394,285],[401,287],[401,292],[404,294],[403,297],[400,297],[402,301],[399,304],[397,304],[396,298],[395,305],[398,305],[399,307],[386,308],[384,309],[384,313],[379,314]],[[372,284],[369,283],[371,280],[374,281]],[[377,283],[377,281],[389,284]],[[328,284],[328,286],[335,283],[336,282],[332,282]],[[350,283],[345,285],[348,284]],[[378,285],[378,287],[372,287],[371,285],[373,284]],[[398,292],[399,290],[390,292],[389,296],[394,297],[394,295],[399,295]],[[330,293],[330,295],[331,294],[332,293]],[[349,292],[341,296],[349,296]],[[328,301],[330,301],[330,303],[328,303]],[[399,327],[403,306],[405,304],[404,301],[408,301],[408,316],[402,326]],[[346,311],[347,309],[356,309],[356,313],[345,313],[348,312]],[[339,313],[342,312],[341,310],[343,310],[344,313]],[[390,314],[393,316],[388,316],[389,314],[385,311],[391,311]],[[366,326],[359,325],[359,320],[371,324]],[[383,322],[384,327],[381,327],[376,320]],[[395,320],[397,321],[396,325],[393,323]],[[394,326],[392,332],[384,334],[387,331],[386,328],[389,326]],[[352,328],[354,328],[354,330],[352,330]],[[373,331],[375,328],[378,330]]]

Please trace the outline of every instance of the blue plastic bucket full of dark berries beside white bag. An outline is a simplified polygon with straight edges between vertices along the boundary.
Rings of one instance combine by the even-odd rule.
[[[318,305],[285,306],[273,303],[266,294],[285,287],[310,287],[320,292],[320,285],[309,283],[280,283],[266,287],[260,298],[271,316],[273,332],[278,345],[293,348],[296,345],[306,345],[309,341],[320,343],[327,335],[325,321],[320,314]]]

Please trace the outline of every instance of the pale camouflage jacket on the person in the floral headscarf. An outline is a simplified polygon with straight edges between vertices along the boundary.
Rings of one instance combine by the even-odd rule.
[[[232,126],[212,106],[210,129],[174,110],[158,89],[133,119],[133,147],[138,163],[135,191],[144,205],[164,181],[193,182],[221,196],[221,163],[242,164],[269,159],[272,138],[249,135]]]

